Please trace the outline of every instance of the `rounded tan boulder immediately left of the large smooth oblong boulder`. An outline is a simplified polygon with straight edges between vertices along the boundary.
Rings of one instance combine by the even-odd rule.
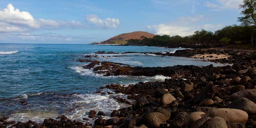
[[[185,118],[184,124],[189,127],[196,120],[201,119],[203,117],[207,117],[207,115],[204,112],[192,112]]]

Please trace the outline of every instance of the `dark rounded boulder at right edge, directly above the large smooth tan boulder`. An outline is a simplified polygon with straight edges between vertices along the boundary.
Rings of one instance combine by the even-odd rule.
[[[240,109],[248,114],[256,113],[256,104],[247,98],[238,98],[231,102],[226,108]]]

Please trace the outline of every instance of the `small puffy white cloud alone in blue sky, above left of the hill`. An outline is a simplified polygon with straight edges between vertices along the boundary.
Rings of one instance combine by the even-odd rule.
[[[96,25],[98,28],[117,28],[120,24],[119,19],[106,18],[101,20],[97,15],[87,15],[86,20]]]

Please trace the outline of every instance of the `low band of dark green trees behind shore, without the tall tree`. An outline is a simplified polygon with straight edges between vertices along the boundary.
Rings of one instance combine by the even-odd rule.
[[[250,44],[251,34],[256,35],[255,26],[253,25],[233,25],[226,26],[220,30],[206,31],[204,29],[196,31],[190,36],[168,36],[156,35],[153,38],[141,37],[141,39],[130,39],[128,45],[153,45],[168,46],[172,44],[202,45],[202,46],[225,46],[225,45],[246,45]]]

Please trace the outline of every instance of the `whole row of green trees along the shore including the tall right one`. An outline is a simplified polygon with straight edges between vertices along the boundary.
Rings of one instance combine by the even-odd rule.
[[[193,35],[181,37],[179,35],[156,35],[153,38],[141,36],[141,39],[130,39],[128,45],[153,45],[168,46],[172,44],[203,45],[203,46],[225,46],[234,44],[253,44],[256,36],[256,1],[244,0],[239,5],[243,17],[238,17],[241,25],[226,26],[215,32],[200,30]]]

